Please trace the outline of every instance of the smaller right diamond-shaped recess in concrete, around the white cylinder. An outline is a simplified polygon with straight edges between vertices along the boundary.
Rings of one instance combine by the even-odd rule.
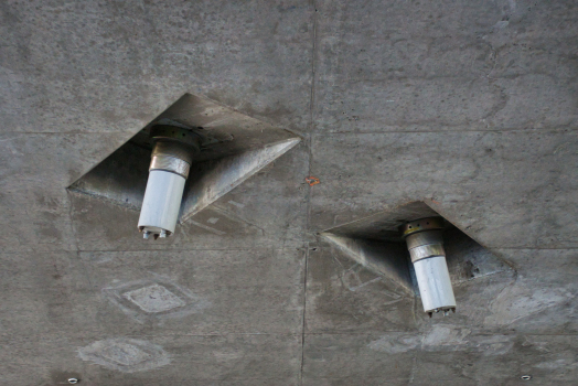
[[[399,226],[418,218],[441,216],[425,202],[411,202],[392,211],[376,213],[360,221],[321,233],[346,256],[374,272],[385,282],[408,294],[419,296],[409,253]],[[474,239],[448,222],[443,246],[453,285],[475,278],[513,271],[506,261],[496,257]]]

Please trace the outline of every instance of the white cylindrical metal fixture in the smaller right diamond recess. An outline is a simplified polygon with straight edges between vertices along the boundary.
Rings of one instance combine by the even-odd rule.
[[[416,271],[424,311],[430,318],[434,312],[441,311],[445,315],[450,310],[456,312],[456,298],[443,250],[443,218],[428,217],[400,227]]]

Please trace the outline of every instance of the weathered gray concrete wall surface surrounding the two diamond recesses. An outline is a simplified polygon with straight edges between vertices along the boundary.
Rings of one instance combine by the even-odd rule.
[[[576,1],[2,1],[0,36],[1,385],[576,385]],[[186,93],[303,141],[162,242],[66,191]],[[512,267],[431,320],[318,237],[425,200]]]

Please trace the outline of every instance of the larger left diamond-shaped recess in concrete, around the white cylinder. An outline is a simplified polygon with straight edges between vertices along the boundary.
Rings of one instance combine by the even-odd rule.
[[[140,211],[147,186],[153,125],[195,128],[202,140],[185,186],[179,222],[222,197],[301,140],[283,129],[205,97],[185,94],[68,190]],[[135,225],[136,228],[136,225]]]

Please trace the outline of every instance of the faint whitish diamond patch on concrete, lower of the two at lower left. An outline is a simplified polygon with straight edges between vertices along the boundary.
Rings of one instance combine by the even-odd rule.
[[[78,356],[83,361],[122,373],[144,372],[171,362],[161,346],[128,337],[94,342],[78,350]]]

